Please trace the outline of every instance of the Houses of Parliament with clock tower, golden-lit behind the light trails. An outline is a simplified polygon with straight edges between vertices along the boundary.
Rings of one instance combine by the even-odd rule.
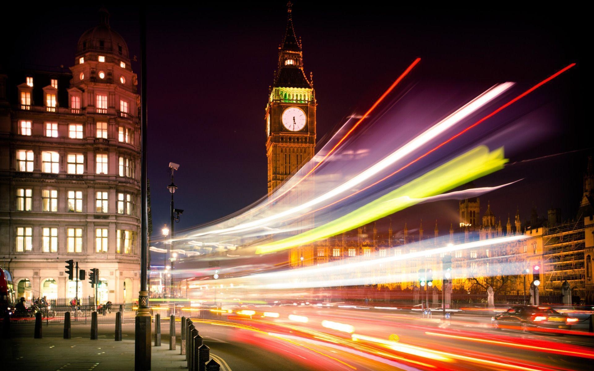
[[[317,100],[311,78],[304,71],[301,40],[293,27],[292,9],[287,8],[287,27],[279,47],[278,68],[274,83],[268,91],[266,105],[266,154],[268,158],[268,194],[295,173],[314,156],[316,139]],[[541,217],[532,210],[522,221],[519,210],[502,220],[495,215],[497,205],[481,205],[481,199],[459,201],[459,222],[451,224],[447,233],[425,222],[433,229],[425,233],[423,221],[413,227],[397,226],[391,220],[378,220],[371,225],[318,241],[312,245],[293,248],[287,259],[293,268],[323,264],[329,261],[357,257],[373,259],[402,255],[413,249],[441,247],[448,243],[464,243],[494,237],[525,234],[526,238],[512,243],[491,245],[488,248],[456,250],[452,252],[453,290],[460,293],[485,293],[494,288],[495,294],[525,294],[525,280],[532,281],[532,267],[541,267],[541,296],[561,296],[561,284],[567,281],[580,302],[594,304],[593,262],[594,218],[590,204],[594,190],[594,166],[589,158],[583,175],[583,197],[576,217],[561,220],[561,211],[548,210]],[[577,206],[577,205],[576,205]],[[484,213],[481,213],[483,208]],[[498,213],[501,213],[498,210]],[[507,213],[505,213],[507,214]],[[434,220],[434,218],[431,218]],[[380,226],[380,228],[378,228]],[[387,229],[385,226],[388,226]],[[421,243],[413,243],[421,242]],[[442,271],[443,256],[425,257],[421,261],[403,262],[398,271],[390,274],[416,272],[418,268]],[[392,269],[392,268],[390,268]],[[523,272],[528,269],[529,273]],[[527,277],[526,277],[527,276]],[[409,276],[410,277],[410,276]],[[378,285],[379,290],[406,290],[418,286],[414,280]],[[441,289],[441,278],[435,286]],[[560,302],[560,299],[558,300]]]

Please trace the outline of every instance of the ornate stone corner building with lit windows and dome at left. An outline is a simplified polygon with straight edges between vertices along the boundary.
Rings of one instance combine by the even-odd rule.
[[[73,46],[74,47],[74,46]],[[69,69],[0,75],[0,259],[18,297],[132,302],[140,286],[137,78],[109,14],[78,40]],[[138,205],[138,207],[137,207]]]

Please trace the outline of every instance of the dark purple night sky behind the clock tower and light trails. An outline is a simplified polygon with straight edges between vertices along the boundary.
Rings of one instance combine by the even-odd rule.
[[[169,161],[181,164],[175,199],[185,212],[178,229],[224,217],[266,194],[264,108],[285,31],[285,4],[148,9],[149,179],[156,232],[169,218]],[[484,87],[503,81],[527,87],[577,62],[527,103],[550,115],[546,125],[538,116],[532,119],[542,135],[516,151],[511,162],[574,152],[509,166],[476,182],[492,186],[524,178],[485,195],[482,212],[489,199],[502,218],[517,206],[522,220],[533,206],[544,216],[551,205],[562,208],[564,219],[574,217],[591,153],[583,149],[592,147],[582,95],[590,67],[582,15],[559,9],[470,14],[428,6],[394,9],[396,3],[313,4],[296,1],[293,21],[305,69],[314,72],[318,144],[347,116],[364,112],[418,56],[422,62],[412,80]],[[112,28],[127,40],[130,55],[140,57],[138,9],[106,6]],[[2,30],[8,54],[1,63],[74,64],[78,37],[97,24],[97,10],[80,4],[10,5],[3,17],[8,28]],[[132,68],[140,74],[139,62]],[[412,230],[422,217],[425,233],[435,218],[445,232],[456,215],[456,201],[418,205],[400,213],[394,229],[402,229],[406,218]]]

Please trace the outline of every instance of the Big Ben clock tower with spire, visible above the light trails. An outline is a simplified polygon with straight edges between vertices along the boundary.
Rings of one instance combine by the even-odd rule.
[[[285,38],[279,46],[279,65],[264,116],[268,195],[314,156],[316,105],[311,74],[308,79],[303,70],[301,40],[295,36],[289,2]]]

